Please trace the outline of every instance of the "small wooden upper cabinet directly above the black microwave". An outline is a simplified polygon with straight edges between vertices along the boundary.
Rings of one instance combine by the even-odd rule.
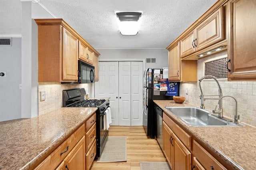
[[[93,65],[93,51],[89,49],[83,42],[79,41],[78,59]]]

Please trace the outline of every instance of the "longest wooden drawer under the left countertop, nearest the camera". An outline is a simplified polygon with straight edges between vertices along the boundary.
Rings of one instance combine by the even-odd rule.
[[[56,150],[52,152],[43,162],[41,162],[36,170],[55,169],[64,158],[70,153],[78,141],[84,136],[84,127],[81,125],[70,137],[68,137]]]

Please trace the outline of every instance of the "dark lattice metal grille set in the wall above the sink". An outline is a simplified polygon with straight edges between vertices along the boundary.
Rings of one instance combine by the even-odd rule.
[[[217,79],[227,79],[228,71],[226,68],[226,64],[227,57],[205,62],[204,75],[213,75]]]

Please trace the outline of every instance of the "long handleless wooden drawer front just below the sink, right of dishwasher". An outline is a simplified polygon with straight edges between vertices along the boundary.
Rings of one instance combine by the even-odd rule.
[[[191,136],[180,128],[166,113],[163,114],[163,120],[171,128],[171,130],[178,136],[182,143],[191,150]]]

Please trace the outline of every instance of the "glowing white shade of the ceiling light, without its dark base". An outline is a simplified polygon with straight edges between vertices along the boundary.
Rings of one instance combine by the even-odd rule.
[[[119,31],[122,35],[134,36],[138,34],[140,29],[140,22],[137,21],[119,21],[118,20]]]

